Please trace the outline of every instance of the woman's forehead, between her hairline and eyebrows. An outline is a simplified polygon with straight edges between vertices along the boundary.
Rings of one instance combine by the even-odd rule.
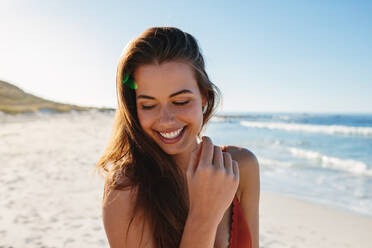
[[[190,65],[184,62],[164,62],[142,65],[134,72],[138,88],[136,95],[166,96],[182,89],[198,93],[198,86]]]

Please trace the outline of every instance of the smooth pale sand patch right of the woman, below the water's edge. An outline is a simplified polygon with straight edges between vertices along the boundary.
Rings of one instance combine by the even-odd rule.
[[[368,248],[371,234],[370,217],[261,192],[260,247]]]

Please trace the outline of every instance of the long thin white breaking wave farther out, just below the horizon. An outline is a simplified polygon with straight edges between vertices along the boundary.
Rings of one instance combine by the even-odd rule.
[[[372,127],[354,127],[341,125],[310,125],[298,123],[256,121],[241,121],[240,124],[246,127],[280,129],[286,131],[372,136]]]

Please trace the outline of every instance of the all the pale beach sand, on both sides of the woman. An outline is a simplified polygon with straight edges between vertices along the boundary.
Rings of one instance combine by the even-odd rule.
[[[92,171],[112,120],[0,116],[0,247],[109,247]],[[372,218],[261,192],[260,247],[371,247],[371,233]]]

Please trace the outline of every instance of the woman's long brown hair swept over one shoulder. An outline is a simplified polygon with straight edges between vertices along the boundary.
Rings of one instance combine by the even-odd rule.
[[[120,56],[116,75],[118,108],[108,146],[95,168],[106,174],[104,196],[113,189],[137,189],[131,222],[141,211],[159,248],[180,244],[189,205],[186,178],[172,157],[143,131],[137,117],[135,90],[123,86],[122,81],[126,74],[134,75],[140,65],[166,61],[189,64],[200,93],[207,100],[200,138],[221,102],[220,90],[209,80],[192,35],[175,27],[152,27],[128,43]]]

